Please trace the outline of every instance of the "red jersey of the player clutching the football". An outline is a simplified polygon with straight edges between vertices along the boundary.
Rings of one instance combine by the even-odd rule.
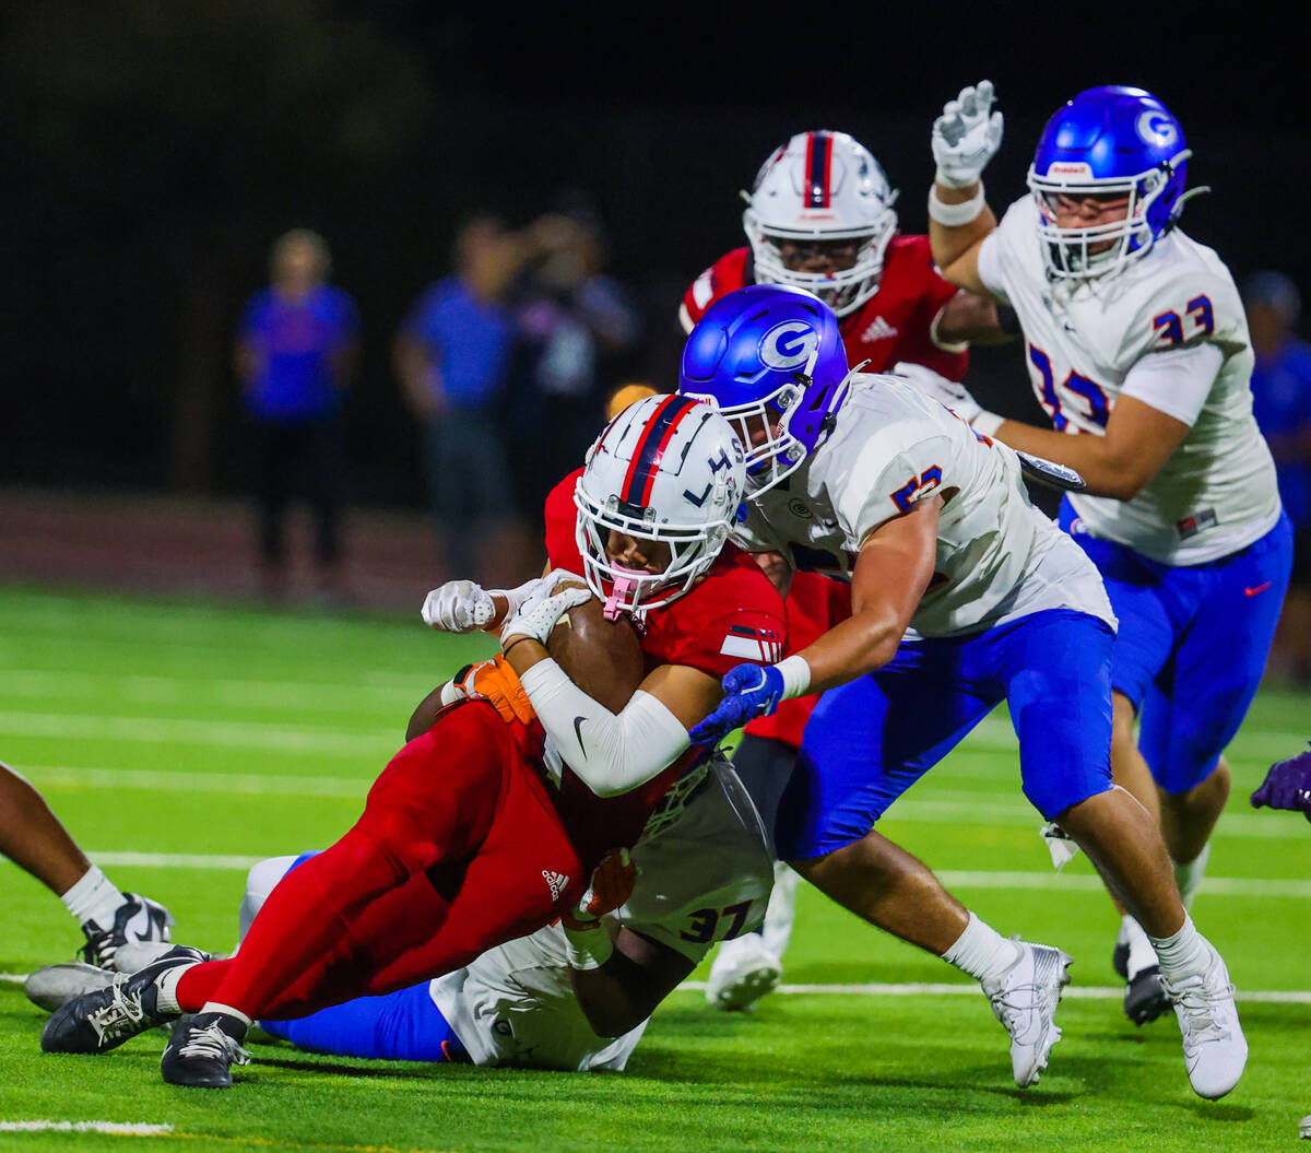
[[[547,496],[547,556],[553,569],[582,575],[578,551],[574,485],[579,468]],[[640,630],[646,670],[661,665],[690,665],[720,679],[729,669],[754,661],[771,665],[787,649],[787,613],[783,598],[742,550],[725,544],[705,578],[690,593],[661,609],[652,609]],[[594,845],[604,849],[632,845],[641,834],[652,807],[678,780],[704,749],[692,746],[663,773],[623,796],[600,799],[573,773],[561,780],[557,808],[570,837],[585,858]]]

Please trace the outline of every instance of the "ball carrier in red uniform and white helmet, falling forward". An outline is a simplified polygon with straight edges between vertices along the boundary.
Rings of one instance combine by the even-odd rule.
[[[750,557],[722,554],[742,483],[742,447],[707,405],[650,397],[621,413],[589,453],[570,521],[593,588],[644,617],[646,674],[623,710],[587,697],[549,656],[558,618],[591,597],[558,584],[558,565],[499,598],[477,589],[480,623],[485,605],[506,618],[514,677],[499,699],[456,700],[412,740],[357,825],[277,887],[235,958],[172,950],[63,1006],[42,1048],[104,1052],[194,1013],[164,1051],[164,1077],[225,1087],[253,1019],[452,972],[576,905],[604,851],[636,842],[665,794],[705,771],[688,729],[739,658],[724,651],[730,636],[755,637],[762,662],[783,649],[779,594]],[[598,933],[597,963],[607,944]]]

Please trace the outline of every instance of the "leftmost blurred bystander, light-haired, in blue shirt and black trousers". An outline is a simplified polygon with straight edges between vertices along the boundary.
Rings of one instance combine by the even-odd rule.
[[[252,420],[264,593],[275,599],[287,590],[284,522],[298,493],[316,517],[320,596],[346,596],[341,411],[355,369],[359,316],[350,296],[328,283],[330,270],[317,232],[292,228],[279,236],[270,258],[273,282],[246,303],[237,338],[236,371]]]

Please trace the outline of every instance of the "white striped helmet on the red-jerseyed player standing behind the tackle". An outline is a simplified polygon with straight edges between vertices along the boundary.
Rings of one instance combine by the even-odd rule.
[[[839,316],[878,290],[884,253],[897,232],[897,193],[869,150],[846,132],[798,132],[756,173],[742,227],[758,283],[814,293]],[[785,241],[852,248],[853,262],[835,273],[794,272],[783,262]],[[846,253],[844,253],[846,257]]]

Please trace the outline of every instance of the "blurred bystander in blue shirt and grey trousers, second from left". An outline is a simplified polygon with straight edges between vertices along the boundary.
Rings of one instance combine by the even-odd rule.
[[[396,373],[423,426],[444,576],[503,578],[519,567],[505,556],[519,512],[498,417],[515,349],[509,296],[530,256],[494,216],[468,220],[454,274],[420,296],[396,337]]]

